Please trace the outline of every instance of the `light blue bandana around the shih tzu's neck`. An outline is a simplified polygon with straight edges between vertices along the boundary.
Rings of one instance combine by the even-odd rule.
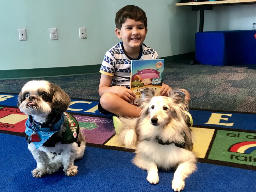
[[[58,115],[56,115],[57,117]],[[26,121],[26,130],[25,133],[31,137],[32,134],[38,134],[40,141],[33,142],[35,148],[42,146],[54,133],[61,130],[61,126],[64,123],[64,114],[61,114],[61,117],[56,121],[56,117],[52,120],[53,123],[50,124],[40,124],[33,120],[32,116],[29,115],[28,120]],[[56,121],[56,122],[55,122]]]

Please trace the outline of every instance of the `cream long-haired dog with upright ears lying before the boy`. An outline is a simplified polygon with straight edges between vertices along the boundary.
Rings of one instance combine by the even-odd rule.
[[[151,184],[159,181],[158,168],[176,168],[172,189],[181,191],[185,179],[197,169],[191,130],[184,115],[184,94],[175,89],[168,93],[169,97],[155,96],[152,88],[144,88],[141,93],[142,114],[140,118],[120,118],[120,141],[127,148],[136,147],[132,162],[147,170],[147,181]],[[184,148],[175,143],[184,144]]]

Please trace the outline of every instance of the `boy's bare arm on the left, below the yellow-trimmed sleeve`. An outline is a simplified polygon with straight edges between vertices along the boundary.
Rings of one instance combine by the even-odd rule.
[[[111,87],[112,77],[113,76],[111,75],[106,75],[103,73],[101,74],[100,81],[99,81],[99,95],[102,96],[106,92],[112,92],[118,95],[118,97],[128,102],[132,102],[136,97],[135,93],[133,93],[132,90],[123,86]]]

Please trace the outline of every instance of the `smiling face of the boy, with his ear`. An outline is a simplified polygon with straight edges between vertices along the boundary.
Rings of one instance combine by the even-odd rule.
[[[147,28],[141,21],[133,19],[126,19],[122,24],[122,28],[115,29],[115,34],[119,39],[122,39],[125,51],[133,51],[140,49],[141,44],[144,42],[147,34]]]

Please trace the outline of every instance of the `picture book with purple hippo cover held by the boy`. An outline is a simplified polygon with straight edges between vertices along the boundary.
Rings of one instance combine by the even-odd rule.
[[[132,104],[138,104],[142,88],[153,87],[160,92],[163,85],[163,68],[164,59],[131,60],[131,90],[136,95]]]

